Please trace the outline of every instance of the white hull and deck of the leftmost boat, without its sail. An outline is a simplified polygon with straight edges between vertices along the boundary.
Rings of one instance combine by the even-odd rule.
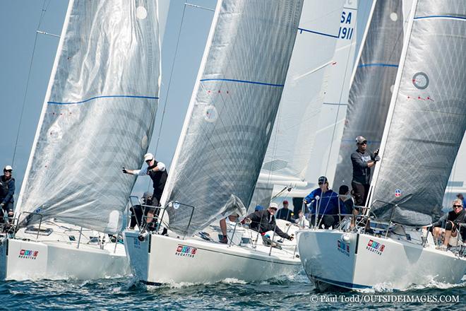
[[[0,235],[0,280],[91,280],[131,272],[124,245],[102,233],[57,222],[42,223],[40,235],[35,229]]]

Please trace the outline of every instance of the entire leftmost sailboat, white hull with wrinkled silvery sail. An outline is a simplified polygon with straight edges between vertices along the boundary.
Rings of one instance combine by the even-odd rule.
[[[69,1],[0,278],[129,274],[118,235],[153,132],[157,1]]]

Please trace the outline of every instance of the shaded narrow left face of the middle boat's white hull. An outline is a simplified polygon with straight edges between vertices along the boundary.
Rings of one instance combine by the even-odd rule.
[[[125,230],[124,247],[133,275],[138,281],[148,281],[148,259],[150,250],[150,235],[140,237],[139,230]]]

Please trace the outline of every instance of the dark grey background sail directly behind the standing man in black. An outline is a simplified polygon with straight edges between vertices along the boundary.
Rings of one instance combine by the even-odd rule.
[[[402,1],[376,1],[367,27],[349,90],[340,151],[335,151],[339,153],[335,189],[351,185],[357,136],[368,139],[371,151],[380,147],[403,45]]]

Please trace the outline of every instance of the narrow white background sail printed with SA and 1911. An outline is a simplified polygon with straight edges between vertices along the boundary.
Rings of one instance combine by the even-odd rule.
[[[316,124],[316,139],[311,152],[311,165],[306,175],[310,184],[307,189],[294,189],[293,196],[306,196],[313,187],[317,187],[318,177],[328,177],[333,187],[333,175],[338,159],[338,149],[345,125],[350,80],[355,64],[358,29],[362,18],[358,21],[359,7],[366,5],[361,1],[345,1],[340,17],[337,46],[333,59],[335,65],[327,68],[328,86],[321,107],[321,117]],[[364,40],[364,38],[363,38]]]

